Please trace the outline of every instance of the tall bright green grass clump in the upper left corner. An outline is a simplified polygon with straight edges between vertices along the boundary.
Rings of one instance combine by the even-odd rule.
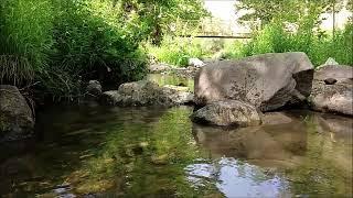
[[[47,67],[52,9],[47,0],[0,2],[0,82],[23,85]]]

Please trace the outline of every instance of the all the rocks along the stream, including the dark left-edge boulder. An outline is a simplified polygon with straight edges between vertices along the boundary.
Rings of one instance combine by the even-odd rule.
[[[266,123],[266,112],[309,107],[353,116],[353,67],[324,65],[314,70],[304,53],[264,54],[239,61],[220,61],[186,68],[151,65],[151,73],[194,78],[188,87],[140,80],[103,91],[97,80],[86,87],[85,101],[103,106],[195,106],[192,121],[221,127]],[[18,88],[0,86],[0,140],[30,136],[33,109]]]

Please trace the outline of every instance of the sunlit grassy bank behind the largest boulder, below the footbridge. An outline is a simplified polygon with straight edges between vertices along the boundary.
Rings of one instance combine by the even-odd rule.
[[[264,53],[304,52],[314,66],[333,57],[342,65],[353,65],[353,25],[329,32],[298,30],[285,31],[284,26],[270,23],[254,32],[248,41],[168,37],[161,46],[147,45],[148,52],[159,62],[186,66],[190,57],[200,59],[237,59]]]

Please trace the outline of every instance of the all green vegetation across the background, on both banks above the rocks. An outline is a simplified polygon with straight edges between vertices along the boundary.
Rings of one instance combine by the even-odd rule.
[[[254,10],[242,20],[261,21],[253,40],[207,42],[175,37],[172,31],[180,21],[208,15],[200,0],[2,0],[0,82],[15,85],[36,98],[74,99],[84,95],[82,87],[89,79],[113,86],[141,79],[147,54],[185,66],[190,57],[239,58],[302,51],[317,66],[328,57],[353,65],[352,21],[333,35],[319,29],[321,13],[344,7],[352,10],[352,4],[330,0],[288,3],[238,1],[237,9]],[[288,31],[288,23],[296,30]],[[188,34],[197,29],[197,24],[189,26],[195,30]]]

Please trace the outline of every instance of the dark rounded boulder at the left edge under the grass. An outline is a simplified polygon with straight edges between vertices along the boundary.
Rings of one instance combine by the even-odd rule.
[[[34,117],[14,86],[0,85],[0,140],[18,140],[32,134]]]

